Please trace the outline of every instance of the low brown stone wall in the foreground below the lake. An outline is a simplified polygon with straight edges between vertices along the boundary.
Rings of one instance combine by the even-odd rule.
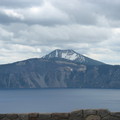
[[[120,120],[120,112],[86,109],[71,113],[0,114],[0,120]]]

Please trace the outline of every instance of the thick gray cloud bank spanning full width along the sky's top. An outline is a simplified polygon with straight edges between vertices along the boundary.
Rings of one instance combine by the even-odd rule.
[[[97,25],[105,18],[111,25],[120,21],[118,0],[1,0],[1,23]]]

